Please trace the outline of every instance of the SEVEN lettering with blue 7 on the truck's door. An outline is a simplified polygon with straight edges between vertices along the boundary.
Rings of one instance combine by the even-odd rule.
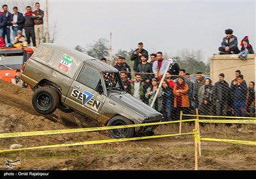
[[[71,93],[71,97],[76,98],[77,100],[80,100],[83,105],[86,107],[89,107],[90,109],[93,109],[94,111],[99,111],[99,107],[101,102],[93,99],[94,95],[86,90],[83,92],[73,89]]]

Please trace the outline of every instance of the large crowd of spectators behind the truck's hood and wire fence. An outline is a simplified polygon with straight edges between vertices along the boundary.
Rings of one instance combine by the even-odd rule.
[[[122,63],[121,56],[116,56],[114,65],[121,72],[125,89],[162,113],[164,121],[179,120],[180,111],[195,114],[195,109],[199,114],[210,116],[255,116],[255,83],[247,84],[240,70],[236,70],[231,84],[225,81],[223,73],[218,75],[219,81],[215,84],[202,72],[197,72],[196,80],[192,82],[190,74],[180,69],[172,58],[164,59],[162,52],[150,54],[148,59],[142,42],[138,43],[131,60],[136,64],[133,72],[127,63]],[[159,86],[161,79],[163,82]]]

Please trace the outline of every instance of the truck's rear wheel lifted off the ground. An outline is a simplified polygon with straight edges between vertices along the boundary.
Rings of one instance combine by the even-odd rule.
[[[48,86],[36,89],[32,97],[32,104],[36,112],[51,114],[59,105],[59,96],[55,89]]]

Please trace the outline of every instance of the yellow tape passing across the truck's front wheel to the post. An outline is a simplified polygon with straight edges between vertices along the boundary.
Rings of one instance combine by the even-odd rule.
[[[195,120],[182,120],[182,122],[195,121]],[[116,128],[129,128],[129,127],[140,127],[147,125],[163,125],[167,123],[179,123],[180,121],[166,121],[166,122],[157,122],[157,123],[141,123],[141,124],[132,124],[132,125],[118,125],[118,126],[108,126],[108,127],[91,127],[91,128],[68,128],[60,130],[40,130],[40,131],[31,131],[31,132],[13,132],[13,133],[2,133],[0,138],[6,137],[24,137],[24,136],[40,136],[40,135],[50,135],[50,134],[66,134],[72,132],[92,132],[97,130],[111,130]]]

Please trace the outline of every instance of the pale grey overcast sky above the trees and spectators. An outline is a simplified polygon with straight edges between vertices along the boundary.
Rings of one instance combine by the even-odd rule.
[[[45,1],[39,1],[45,10]],[[149,53],[202,51],[203,60],[218,53],[225,29],[234,30],[239,44],[245,35],[255,50],[255,1],[48,1],[50,29],[56,43],[86,47],[110,39],[115,54],[138,42]],[[35,8],[33,7],[33,10]],[[239,49],[241,46],[239,46]]]

